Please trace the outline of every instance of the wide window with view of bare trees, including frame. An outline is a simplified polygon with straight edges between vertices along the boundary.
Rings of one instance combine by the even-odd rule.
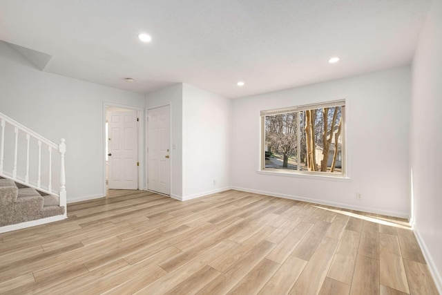
[[[345,176],[345,101],[261,111],[261,170]]]

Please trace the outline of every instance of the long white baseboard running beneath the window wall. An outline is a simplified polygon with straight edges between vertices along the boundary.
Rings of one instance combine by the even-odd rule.
[[[410,218],[410,216],[407,213],[403,213],[403,212],[387,211],[387,210],[370,208],[370,207],[354,206],[354,205],[349,205],[349,204],[339,203],[339,202],[329,202],[329,201],[318,200],[318,199],[313,199],[313,198],[304,198],[304,197],[300,197],[300,196],[286,195],[284,193],[272,193],[271,191],[259,191],[258,189],[246,189],[244,187],[231,187],[231,189],[236,189],[237,191],[246,191],[248,193],[259,193],[260,195],[267,195],[267,196],[278,197],[278,198],[311,202],[311,203],[316,203],[316,204],[324,204],[324,205],[329,205],[329,206],[339,207],[339,208],[349,209],[349,210],[357,210],[357,211],[363,211],[363,212],[368,212],[368,213],[383,214],[383,215],[394,216],[394,217],[399,217],[399,218],[407,218],[407,219]]]

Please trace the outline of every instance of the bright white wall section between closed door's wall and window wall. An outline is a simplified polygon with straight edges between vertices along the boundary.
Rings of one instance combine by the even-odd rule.
[[[231,99],[183,84],[182,132],[183,200],[229,189]]]

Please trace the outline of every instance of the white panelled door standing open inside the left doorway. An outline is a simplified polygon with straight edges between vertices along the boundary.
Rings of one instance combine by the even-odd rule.
[[[138,189],[137,111],[108,112],[109,189]]]

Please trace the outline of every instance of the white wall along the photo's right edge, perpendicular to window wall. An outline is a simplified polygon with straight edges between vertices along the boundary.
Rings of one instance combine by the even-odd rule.
[[[442,294],[442,1],[433,3],[412,64],[410,168],[414,229]]]

